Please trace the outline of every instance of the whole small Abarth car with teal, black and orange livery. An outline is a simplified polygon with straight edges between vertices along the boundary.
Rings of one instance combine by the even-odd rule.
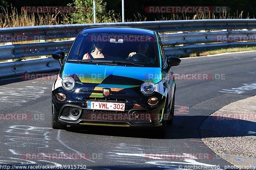
[[[152,128],[165,135],[172,123],[177,57],[166,57],[156,31],[89,27],[68,55],[52,53],[61,69],[52,86],[52,128],[67,125]]]

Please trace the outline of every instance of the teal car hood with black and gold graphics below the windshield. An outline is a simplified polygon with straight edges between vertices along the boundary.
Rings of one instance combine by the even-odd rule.
[[[145,81],[158,83],[166,74],[158,67],[130,67],[65,63],[60,77],[71,76],[76,82],[99,84],[141,85]]]

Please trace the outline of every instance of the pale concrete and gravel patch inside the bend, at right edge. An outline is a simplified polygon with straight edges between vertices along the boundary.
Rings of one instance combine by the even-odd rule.
[[[202,142],[221,158],[235,166],[256,167],[256,96],[215,111],[199,130]]]

